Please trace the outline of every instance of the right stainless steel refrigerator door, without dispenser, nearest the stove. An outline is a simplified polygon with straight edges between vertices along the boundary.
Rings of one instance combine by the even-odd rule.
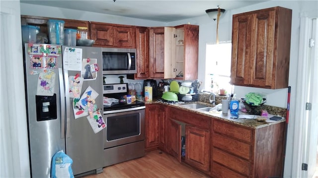
[[[65,48],[71,46],[63,46]],[[97,59],[96,79],[84,80],[81,88],[81,94],[90,86],[99,95],[95,99],[95,104],[103,113],[103,76],[102,76],[102,53],[100,47],[82,47],[73,46],[72,48],[82,48],[82,58]],[[65,59],[64,59],[65,60]],[[64,78],[66,84],[69,82],[69,76],[79,76],[81,71],[71,71],[64,69]],[[66,85],[66,91],[69,91]],[[87,116],[75,119],[73,111],[73,98],[70,98],[69,92],[66,92],[66,153],[73,159],[73,173],[79,175],[85,172],[100,170],[103,167],[103,131],[94,134]]]

